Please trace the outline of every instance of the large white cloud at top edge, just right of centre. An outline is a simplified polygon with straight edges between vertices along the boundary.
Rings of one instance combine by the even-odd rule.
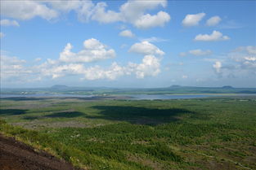
[[[156,15],[146,14],[146,11],[156,7],[166,7],[166,0],[159,1],[128,1],[125,2],[119,11],[106,10],[106,2],[98,2],[93,8],[92,20],[101,23],[124,22],[133,24],[137,28],[152,28],[164,26],[169,20],[170,15],[164,11],[159,11]]]

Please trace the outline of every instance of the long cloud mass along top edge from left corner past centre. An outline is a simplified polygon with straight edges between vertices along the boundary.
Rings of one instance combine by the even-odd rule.
[[[164,11],[150,15],[146,11],[155,10],[157,7],[166,7],[166,5],[166,0],[150,2],[128,0],[119,7],[119,11],[111,11],[107,10],[106,2],[93,3],[91,0],[1,1],[1,15],[18,20],[29,20],[36,16],[52,20],[63,13],[75,11],[80,21],[124,22],[137,28],[152,28],[164,26],[170,20],[170,15]]]

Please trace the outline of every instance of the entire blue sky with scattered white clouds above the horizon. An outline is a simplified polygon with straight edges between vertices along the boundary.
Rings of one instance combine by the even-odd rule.
[[[1,86],[256,87],[255,1],[1,1]]]

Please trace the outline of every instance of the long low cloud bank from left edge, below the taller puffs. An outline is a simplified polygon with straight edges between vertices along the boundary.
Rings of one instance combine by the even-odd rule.
[[[24,60],[17,58],[1,57],[1,77],[2,80],[16,81],[41,81],[45,77],[57,79],[65,76],[82,76],[83,79],[94,81],[99,79],[116,80],[120,76],[134,74],[137,78],[146,76],[157,76],[160,72],[159,59],[153,55],[146,55],[141,63],[128,63],[120,66],[112,63],[110,68],[102,68],[95,65],[84,67],[83,63],[60,63],[57,60],[47,59],[46,62],[33,67],[25,67]]]

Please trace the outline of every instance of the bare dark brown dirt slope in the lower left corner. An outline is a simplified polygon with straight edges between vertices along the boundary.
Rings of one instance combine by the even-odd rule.
[[[36,152],[31,146],[0,134],[1,170],[77,170],[46,152]]]

